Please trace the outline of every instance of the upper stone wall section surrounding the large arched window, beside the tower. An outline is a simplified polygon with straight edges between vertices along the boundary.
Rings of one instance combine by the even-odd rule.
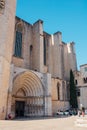
[[[15,40],[17,26],[20,25],[22,28],[22,56],[14,56],[15,51]],[[14,46],[13,46],[13,59],[12,62],[15,66],[32,69],[32,53],[30,52],[30,46],[33,44],[33,30],[32,25],[16,17],[15,19],[15,32],[14,32]]]

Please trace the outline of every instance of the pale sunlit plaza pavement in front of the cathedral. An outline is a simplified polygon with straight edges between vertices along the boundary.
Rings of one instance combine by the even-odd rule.
[[[87,124],[87,117],[77,116],[0,120],[0,130],[87,130],[84,124]]]

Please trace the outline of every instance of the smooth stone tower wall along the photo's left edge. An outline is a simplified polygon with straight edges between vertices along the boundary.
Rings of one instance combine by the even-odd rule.
[[[3,0],[0,8],[0,119],[5,119],[10,79],[16,0]]]

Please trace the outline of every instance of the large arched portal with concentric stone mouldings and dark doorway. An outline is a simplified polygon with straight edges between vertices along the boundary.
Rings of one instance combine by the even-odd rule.
[[[23,72],[14,79],[11,112],[15,116],[44,115],[44,88],[32,71]]]

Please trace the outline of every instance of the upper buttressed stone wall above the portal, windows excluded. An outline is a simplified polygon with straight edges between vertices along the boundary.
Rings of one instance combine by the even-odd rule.
[[[13,63],[18,67],[42,73],[49,72],[52,77],[69,80],[70,69],[77,69],[74,43],[62,42],[61,32],[53,35],[43,32],[43,21],[41,20],[31,25],[16,17],[15,26],[18,24],[22,26],[23,30],[22,57],[13,57]],[[46,65],[44,65],[44,38],[46,42]],[[31,46],[32,50],[30,50]],[[14,48],[15,34],[13,55]]]

